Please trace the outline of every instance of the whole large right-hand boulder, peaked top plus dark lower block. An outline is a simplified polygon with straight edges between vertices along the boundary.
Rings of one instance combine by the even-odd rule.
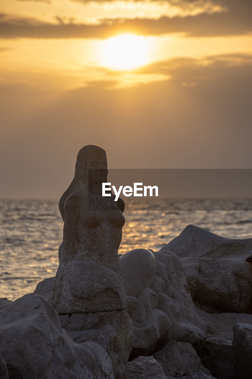
[[[189,225],[162,247],[181,257],[193,301],[214,312],[252,313],[252,238],[224,238]]]

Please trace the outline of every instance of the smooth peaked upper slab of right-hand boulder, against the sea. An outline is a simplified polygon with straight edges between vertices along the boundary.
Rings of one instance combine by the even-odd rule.
[[[252,254],[252,238],[244,240],[224,238],[194,225],[188,225],[160,251],[171,251],[178,257],[223,258]]]

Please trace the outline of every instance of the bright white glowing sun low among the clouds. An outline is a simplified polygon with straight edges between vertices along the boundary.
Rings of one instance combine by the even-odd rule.
[[[143,36],[120,34],[103,42],[102,64],[118,70],[132,70],[147,63],[148,42]]]

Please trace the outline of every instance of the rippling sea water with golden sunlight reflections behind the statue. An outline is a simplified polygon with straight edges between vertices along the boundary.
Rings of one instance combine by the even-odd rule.
[[[252,199],[126,200],[119,253],[159,250],[189,224],[252,238]],[[0,297],[15,300],[55,276],[63,221],[54,200],[0,200]]]

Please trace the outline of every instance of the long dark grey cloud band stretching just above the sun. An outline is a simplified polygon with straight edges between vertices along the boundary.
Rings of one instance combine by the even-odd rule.
[[[221,2],[229,4],[227,11],[200,13],[195,16],[162,16],[149,18],[107,18],[99,23],[76,23],[75,20],[58,18],[58,23],[39,19],[14,17],[2,14],[0,35],[2,38],[100,38],[131,32],[144,36],[166,33],[184,33],[185,36],[208,37],[241,35],[252,32],[252,2]]]

